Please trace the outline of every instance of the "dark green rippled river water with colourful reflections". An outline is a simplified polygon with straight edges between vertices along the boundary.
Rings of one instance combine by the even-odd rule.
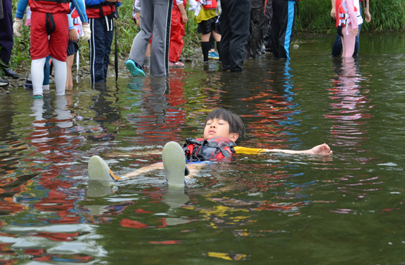
[[[290,61],[244,73],[187,63],[169,77],[88,79],[66,96],[0,100],[0,264],[402,264],[405,262],[405,34],[362,33],[360,57],[333,36],[295,37]],[[97,187],[200,137],[207,112],[242,117],[242,146],[310,149],[213,163],[168,190],[162,171]]]

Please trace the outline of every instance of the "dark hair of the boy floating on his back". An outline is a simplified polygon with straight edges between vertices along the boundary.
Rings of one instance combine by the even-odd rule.
[[[229,123],[229,132],[236,132],[239,134],[239,137],[235,141],[235,144],[238,144],[240,141],[245,139],[245,128],[242,120],[237,114],[230,112],[227,109],[214,109],[212,112],[209,112],[207,119],[205,119],[205,125],[210,119],[223,119]]]

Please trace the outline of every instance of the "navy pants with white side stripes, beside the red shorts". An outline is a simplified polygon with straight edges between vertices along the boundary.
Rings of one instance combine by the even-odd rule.
[[[107,20],[105,20],[105,17]],[[110,16],[105,17],[89,18],[91,29],[91,39],[89,40],[91,83],[107,81],[112,36],[114,36],[114,22]],[[105,25],[101,23],[101,20],[104,20]]]

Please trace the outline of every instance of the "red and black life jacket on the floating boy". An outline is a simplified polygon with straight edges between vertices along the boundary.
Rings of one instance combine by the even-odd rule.
[[[209,139],[187,138],[183,145],[186,160],[205,161],[212,159],[229,158],[235,153],[235,142],[225,137],[212,137]]]

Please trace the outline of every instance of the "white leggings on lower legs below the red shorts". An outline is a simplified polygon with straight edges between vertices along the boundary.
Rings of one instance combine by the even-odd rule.
[[[43,67],[45,66],[46,58],[36,59],[31,61],[31,79],[34,96],[43,96]],[[65,94],[66,86],[66,61],[58,61],[52,58],[52,63],[55,67],[55,85],[57,86],[57,95]]]

